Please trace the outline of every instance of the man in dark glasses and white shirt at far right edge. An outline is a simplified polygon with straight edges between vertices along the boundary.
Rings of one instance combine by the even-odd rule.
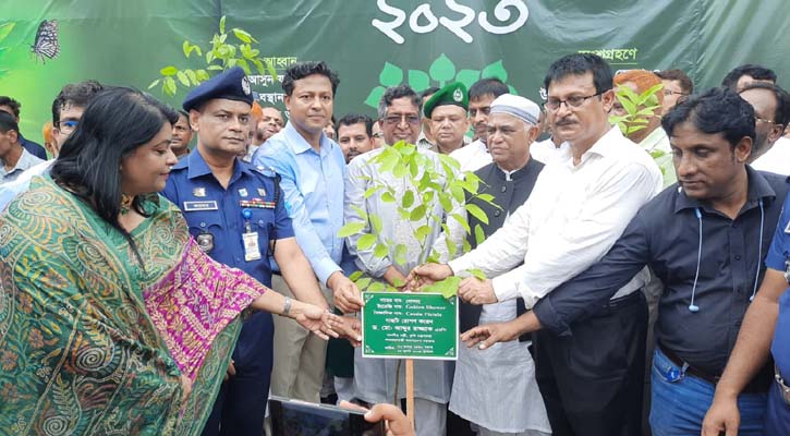
[[[790,121],[790,96],[773,83],[752,82],[738,93],[754,108],[756,137],[746,161],[752,168],[790,174],[790,140],[782,136]]]

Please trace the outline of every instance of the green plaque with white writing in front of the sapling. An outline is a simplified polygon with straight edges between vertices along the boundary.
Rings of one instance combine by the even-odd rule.
[[[455,296],[365,292],[363,298],[363,358],[458,359]]]

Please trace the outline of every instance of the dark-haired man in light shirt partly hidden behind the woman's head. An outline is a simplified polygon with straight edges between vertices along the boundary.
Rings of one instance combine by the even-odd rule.
[[[63,86],[52,101],[52,144],[53,158],[58,158],[60,147],[76,129],[80,119],[88,106],[88,102],[97,95],[104,86],[96,81],[85,81]],[[40,162],[23,172],[13,182],[0,186],[0,210],[22,192],[27,191],[31,179],[49,172],[54,159]]]

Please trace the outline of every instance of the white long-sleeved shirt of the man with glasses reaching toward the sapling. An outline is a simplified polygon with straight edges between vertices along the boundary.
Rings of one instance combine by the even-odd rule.
[[[660,190],[661,172],[651,156],[618,128],[609,129],[579,165],[571,156],[549,162],[505,226],[449,265],[455,274],[482,269],[495,277],[499,301],[522,296],[532,307],[598,262]],[[637,275],[613,298],[630,294],[646,279]]]

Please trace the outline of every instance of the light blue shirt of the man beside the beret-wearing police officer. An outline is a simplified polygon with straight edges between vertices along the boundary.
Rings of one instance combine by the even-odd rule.
[[[253,164],[272,168],[282,180],[288,215],[296,242],[318,280],[326,283],[341,270],[345,158],[340,146],[321,133],[317,153],[289,122],[253,156]]]

